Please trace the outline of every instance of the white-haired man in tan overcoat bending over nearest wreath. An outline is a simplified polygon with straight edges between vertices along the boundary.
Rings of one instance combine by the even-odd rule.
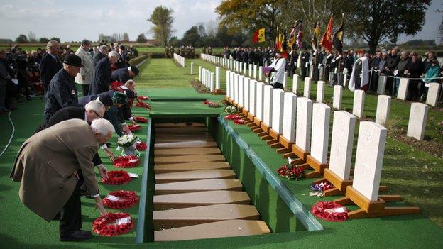
[[[21,182],[20,200],[48,222],[60,212],[61,241],[92,238],[90,231],[81,230],[80,171],[100,214],[107,214],[92,157],[113,133],[111,123],[104,119],[95,119],[90,126],[80,119],[70,119],[31,136],[18,152],[10,177]]]

